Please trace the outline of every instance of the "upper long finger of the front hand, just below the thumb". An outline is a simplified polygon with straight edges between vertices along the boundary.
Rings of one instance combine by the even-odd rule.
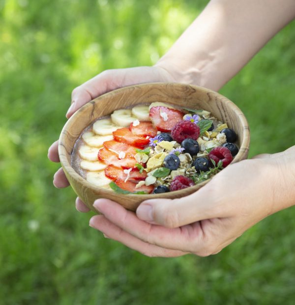
[[[111,200],[98,199],[93,206],[110,222],[144,242],[183,252],[198,251],[204,246],[204,232],[199,222],[169,229],[140,220],[134,212],[125,210]]]

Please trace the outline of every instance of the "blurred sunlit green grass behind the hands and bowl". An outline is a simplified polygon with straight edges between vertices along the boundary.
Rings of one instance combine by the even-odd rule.
[[[294,304],[295,208],[218,255],[148,258],[90,228],[52,184],[47,150],[72,89],[154,64],[206,3],[0,0],[0,305]],[[294,75],[292,23],[221,90],[249,121],[250,157],[295,144]]]

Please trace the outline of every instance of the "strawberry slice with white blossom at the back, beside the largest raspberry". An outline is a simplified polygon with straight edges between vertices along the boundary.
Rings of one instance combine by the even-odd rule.
[[[176,109],[163,106],[151,107],[149,117],[152,124],[161,132],[171,132],[176,123],[180,122],[183,113]]]

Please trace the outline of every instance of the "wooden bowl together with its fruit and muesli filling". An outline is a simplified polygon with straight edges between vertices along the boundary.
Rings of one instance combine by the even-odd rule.
[[[75,193],[94,210],[108,198],[136,210],[181,198],[246,159],[249,127],[224,96],[185,84],[134,85],[84,105],[65,124],[59,159]]]

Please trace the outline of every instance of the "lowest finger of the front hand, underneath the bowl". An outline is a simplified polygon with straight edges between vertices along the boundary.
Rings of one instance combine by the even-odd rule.
[[[127,247],[136,250],[149,257],[177,257],[186,254],[182,251],[165,249],[156,245],[149,244],[144,242],[129,233],[123,231],[115,224],[111,223],[105,216],[97,215],[93,216],[89,225],[92,228],[95,228],[101,231],[108,238],[112,238],[126,245]]]

